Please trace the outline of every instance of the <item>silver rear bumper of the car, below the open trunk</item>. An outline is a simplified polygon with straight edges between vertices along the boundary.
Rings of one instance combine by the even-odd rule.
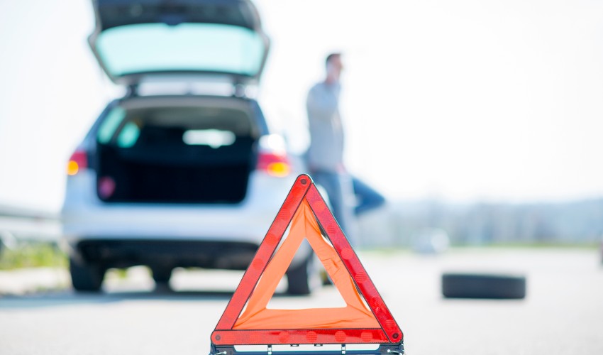
[[[270,228],[294,176],[253,173],[240,204],[104,203],[94,176],[71,177],[62,209],[64,245],[104,267],[135,265],[244,270]],[[77,178],[77,179],[75,179]],[[292,266],[311,252],[302,244]]]

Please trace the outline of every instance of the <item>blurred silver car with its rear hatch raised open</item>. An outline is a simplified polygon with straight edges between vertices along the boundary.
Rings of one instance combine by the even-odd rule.
[[[304,172],[265,119],[254,88],[269,48],[248,0],[93,1],[89,43],[128,88],[100,114],[67,167],[62,207],[75,290],[108,268],[245,270]],[[311,292],[311,249],[287,271]]]

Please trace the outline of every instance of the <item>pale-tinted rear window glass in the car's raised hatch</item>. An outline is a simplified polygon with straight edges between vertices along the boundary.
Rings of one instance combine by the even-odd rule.
[[[97,50],[115,77],[142,72],[200,71],[257,75],[265,43],[248,28],[212,23],[143,23],[110,28]]]

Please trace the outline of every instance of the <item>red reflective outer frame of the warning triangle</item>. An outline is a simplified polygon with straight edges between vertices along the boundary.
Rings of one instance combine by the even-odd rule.
[[[358,292],[364,297],[380,327],[363,329],[287,329],[286,327],[283,329],[233,329],[246,302],[258,285],[262,273],[275,254],[287,226],[304,200],[308,202],[314,216],[326,232],[326,238],[341,258],[358,288]],[[382,346],[389,344],[395,346],[387,346],[387,348],[391,348],[388,349],[388,353],[403,353],[403,338],[402,330],[383,302],[363,264],[360,263],[358,255],[350,246],[331,210],[316,189],[316,185],[309,175],[299,175],[255,253],[253,261],[240,280],[233,297],[228,302],[214,332],[211,333],[212,350],[215,350],[212,353],[221,352],[217,350],[224,346],[230,349],[235,345],[276,344],[382,344]],[[223,354],[227,353],[231,353],[231,351],[223,352]]]

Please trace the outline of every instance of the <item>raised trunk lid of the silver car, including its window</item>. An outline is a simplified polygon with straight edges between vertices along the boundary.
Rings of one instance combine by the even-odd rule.
[[[260,79],[270,41],[250,0],[93,0],[89,44],[117,84],[150,77]]]

